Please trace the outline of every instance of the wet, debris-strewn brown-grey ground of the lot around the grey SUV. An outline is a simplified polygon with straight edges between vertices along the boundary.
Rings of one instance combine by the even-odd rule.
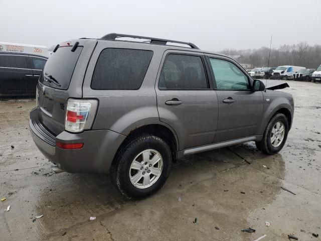
[[[137,202],[108,176],[53,174],[29,134],[35,101],[1,101],[0,239],[319,240],[312,232],[321,236],[321,84],[288,83],[295,115],[279,154],[247,143],[189,156],[161,191]],[[241,231],[247,227],[256,231]]]

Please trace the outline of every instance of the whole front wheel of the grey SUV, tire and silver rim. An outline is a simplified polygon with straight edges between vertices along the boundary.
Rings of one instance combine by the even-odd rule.
[[[278,153],[286,142],[288,131],[286,116],[282,113],[275,114],[268,123],[262,140],[255,143],[257,149],[268,155]]]

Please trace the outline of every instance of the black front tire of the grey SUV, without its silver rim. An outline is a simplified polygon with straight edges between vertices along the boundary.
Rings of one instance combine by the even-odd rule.
[[[281,144],[278,147],[273,147],[271,144],[271,132],[272,128],[276,123],[281,122],[284,125],[284,137]],[[278,153],[284,146],[287,138],[287,134],[289,131],[288,120],[286,116],[282,113],[276,113],[267,124],[267,127],[264,131],[263,138],[259,142],[255,142],[256,147],[259,151],[264,154],[273,155],[274,153]]]

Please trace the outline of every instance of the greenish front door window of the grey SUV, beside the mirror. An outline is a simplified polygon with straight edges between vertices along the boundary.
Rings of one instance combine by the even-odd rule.
[[[218,89],[249,89],[247,76],[233,63],[210,58]]]

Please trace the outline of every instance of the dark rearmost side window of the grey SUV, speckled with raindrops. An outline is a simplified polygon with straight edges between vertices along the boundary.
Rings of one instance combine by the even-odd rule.
[[[148,69],[152,51],[104,49],[92,76],[92,89],[139,89]]]

